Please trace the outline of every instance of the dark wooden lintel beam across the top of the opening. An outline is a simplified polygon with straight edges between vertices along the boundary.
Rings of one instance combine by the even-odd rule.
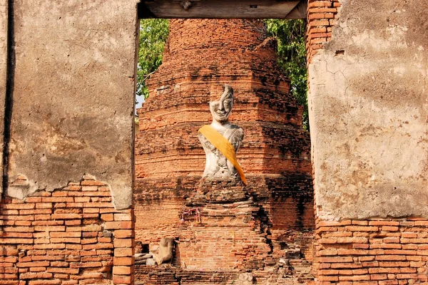
[[[305,19],[307,0],[141,0],[138,17],[163,19]]]

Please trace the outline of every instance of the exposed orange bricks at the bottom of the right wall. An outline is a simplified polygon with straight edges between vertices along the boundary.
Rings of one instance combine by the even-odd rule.
[[[428,220],[317,222],[314,270],[320,284],[428,281]]]

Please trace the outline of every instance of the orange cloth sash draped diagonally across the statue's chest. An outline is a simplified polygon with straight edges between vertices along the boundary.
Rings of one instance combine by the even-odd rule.
[[[238,171],[240,179],[243,180],[244,184],[247,185],[247,180],[245,180],[245,175],[243,169],[240,167],[238,160],[236,160],[235,149],[233,145],[223,137],[220,133],[218,133],[215,128],[210,125],[204,125],[202,128],[198,130],[199,133],[203,134],[207,140],[209,140],[215,148],[220,150],[221,153],[232,162],[235,169]]]

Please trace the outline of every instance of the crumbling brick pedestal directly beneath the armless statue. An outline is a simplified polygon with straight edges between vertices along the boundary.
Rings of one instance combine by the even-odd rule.
[[[189,269],[260,269],[272,249],[263,209],[243,182],[200,180],[185,202],[177,258]],[[202,264],[202,266],[201,266]]]

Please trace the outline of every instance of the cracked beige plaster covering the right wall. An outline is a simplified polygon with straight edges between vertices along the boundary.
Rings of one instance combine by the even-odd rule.
[[[428,216],[426,1],[341,1],[309,66],[321,219]]]

